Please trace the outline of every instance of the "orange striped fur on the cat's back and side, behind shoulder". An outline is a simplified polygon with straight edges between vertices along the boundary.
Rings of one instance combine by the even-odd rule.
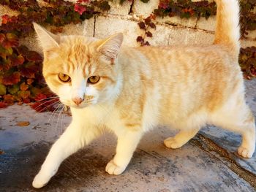
[[[223,45],[138,47],[129,54],[127,62],[148,82],[146,90],[158,90],[161,114],[175,112],[169,118],[201,107],[215,110],[243,88],[238,58]]]

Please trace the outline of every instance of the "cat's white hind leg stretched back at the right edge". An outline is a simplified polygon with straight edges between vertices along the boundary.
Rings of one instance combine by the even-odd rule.
[[[242,136],[238,154],[251,158],[255,152],[255,117],[244,99],[230,101],[212,115],[212,123]]]

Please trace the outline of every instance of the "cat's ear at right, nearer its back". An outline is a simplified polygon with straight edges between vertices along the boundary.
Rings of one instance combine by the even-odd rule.
[[[118,55],[123,39],[123,34],[114,34],[107,39],[104,39],[97,48],[97,51],[105,55],[110,60],[115,59]]]

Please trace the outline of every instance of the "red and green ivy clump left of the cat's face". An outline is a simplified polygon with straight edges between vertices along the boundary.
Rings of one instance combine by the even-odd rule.
[[[15,34],[0,33],[0,108],[53,96],[42,77],[42,57],[20,46]]]

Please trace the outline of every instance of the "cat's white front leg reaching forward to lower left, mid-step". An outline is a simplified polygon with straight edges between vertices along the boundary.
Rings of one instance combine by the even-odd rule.
[[[59,169],[59,165],[65,158],[78,151],[81,147],[91,142],[97,136],[96,128],[83,128],[79,123],[72,121],[67,130],[53,144],[45,162],[32,185],[34,188],[42,188]]]

